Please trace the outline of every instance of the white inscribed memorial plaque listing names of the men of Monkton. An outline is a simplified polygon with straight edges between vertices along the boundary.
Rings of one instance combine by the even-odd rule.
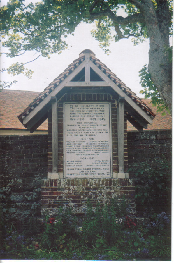
[[[111,177],[110,102],[64,102],[64,177]]]

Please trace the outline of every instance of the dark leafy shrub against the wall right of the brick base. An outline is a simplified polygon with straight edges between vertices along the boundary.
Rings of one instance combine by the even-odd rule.
[[[130,165],[135,179],[136,209],[143,215],[144,208],[171,214],[171,163],[164,157]]]

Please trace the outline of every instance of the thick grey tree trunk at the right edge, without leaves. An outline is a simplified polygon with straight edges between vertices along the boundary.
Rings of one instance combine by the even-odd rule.
[[[166,48],[169,47],[169,33],[167,29],[169,11],[167,2],[162,0],[161,4],[160,1],[158,1],[157,11],[155,11],[151,0],[142,1],[142,11],[145,16],[150,41],[148,71],[152,76],[154,85],[172,114],[172,64],[169,62],[169,55],[166,52]]]

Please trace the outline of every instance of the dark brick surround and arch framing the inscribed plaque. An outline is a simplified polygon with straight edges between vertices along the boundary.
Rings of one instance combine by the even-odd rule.
[[[81,88],[82,89],[82,88]],[[91,88],[92,89],[92,88]],[[72,91],[73,92],[73,91]],[[63,173],[63,102],[111,102],[111,122],[112,122],[112,154],[113,154],[113,172],[118,173],[118,138],[117,138],[117,107],[115,99],[110,94],[65,94],[58,101],[58,173]],[[124,115],[124,172],[128,169],[127,154],[127,124],[126,114]],[[51,109],[48,112],[48,172],[52,172],[52,119]]]

